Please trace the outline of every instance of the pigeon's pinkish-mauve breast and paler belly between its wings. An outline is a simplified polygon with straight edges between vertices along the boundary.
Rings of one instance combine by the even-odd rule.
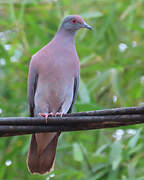
[[[67,49],[47,51],[38,57],[38,82],[35,93],[35,104],[49,104],[58,109],[62,103],[71,104],[73,97],[74,79],[79,73],[77,54]]]

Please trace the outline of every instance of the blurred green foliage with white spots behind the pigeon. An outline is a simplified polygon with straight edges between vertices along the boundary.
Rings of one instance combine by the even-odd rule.
[[[62,19],[79,14],[93,26],[76,47],[81,83],[74,111],[144,105],[144,0],[0,0],[0,116],[28,116],[31,56],[55,35]],[[30,136],[0,139],[2,180],[144,180],[142,125],[67,132],[55,171],[31,175]]]

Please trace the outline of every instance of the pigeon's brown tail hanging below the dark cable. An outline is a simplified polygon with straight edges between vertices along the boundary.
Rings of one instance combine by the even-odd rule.
[[[59,133],[33,134],[27,164],[31,173],[46,174],[53,170]]]

